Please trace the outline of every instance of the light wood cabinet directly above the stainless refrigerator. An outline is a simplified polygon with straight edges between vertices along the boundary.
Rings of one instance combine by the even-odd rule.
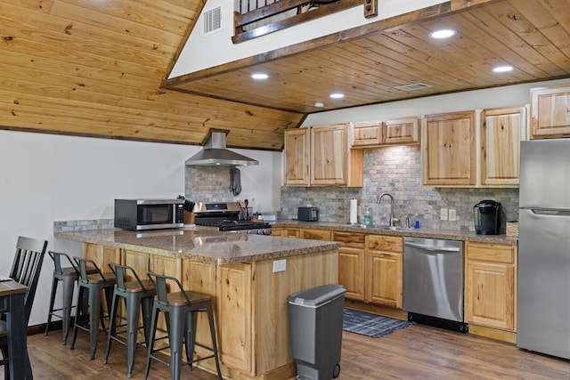
[[[531,89],[530,137],[570,137],[570,85]]]

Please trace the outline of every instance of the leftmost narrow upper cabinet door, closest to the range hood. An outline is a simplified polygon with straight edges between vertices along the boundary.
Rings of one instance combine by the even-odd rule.
[[[285,130],[285,185],[309,186],[310,128]]]

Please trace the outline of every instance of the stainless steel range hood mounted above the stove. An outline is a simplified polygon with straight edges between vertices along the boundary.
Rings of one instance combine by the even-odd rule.
[[[249,166],[259,161],[225,149],[225,135],[229,131],[210,129],[203,149],[185,162],[187,166]]]

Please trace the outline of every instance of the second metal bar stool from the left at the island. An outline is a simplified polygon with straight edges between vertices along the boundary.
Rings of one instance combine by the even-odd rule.
[[[79,292],[77,295],[77,312],[75,324],[73,326],[71,350],[75,348],[77,330],[82,329],[87,331],[90,336],[91,360],[94,360],[95,351],[97,350],[99,318],[104,318],[101,308],[102,291],[105,291],[107,310],[110,311],[113,288],[115,287],[115,275],[111,272],[103,273],[93,260],[84,259],[82,257],[73,257],[73,260],[75,260],[79,267],[79,280],[77,282]],[[92,266],[95,269],[96,272],[94,274],[87,273],[87,268],[89,266]],[[103,321],[102,329],[105,331]]]

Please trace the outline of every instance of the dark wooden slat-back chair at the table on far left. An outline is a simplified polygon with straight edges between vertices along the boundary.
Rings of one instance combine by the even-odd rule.
[[[37,281],[39,273],[42,270],[42,263],[44,263],[45,249],[47,248],[47,241],[41,239],[31,239],[25,237],[18,237],[16,243],[16,254],[12,263],[12,271],[9,277],[28,287],[28,292],[24,295],[24,311],[23,318],[26,320],[28,326],[29,315],[32,311],[32,303],[34,303],[34,296],[36,295]],[[10,378],[10,368],[8,364],[8,335],[6,323],[0,320],[0,350],[4,356],[0,360],[0,365],[4,366],[4,378]],[[29,361],[26,368],[26,377],[31,377],[31,368]]]

